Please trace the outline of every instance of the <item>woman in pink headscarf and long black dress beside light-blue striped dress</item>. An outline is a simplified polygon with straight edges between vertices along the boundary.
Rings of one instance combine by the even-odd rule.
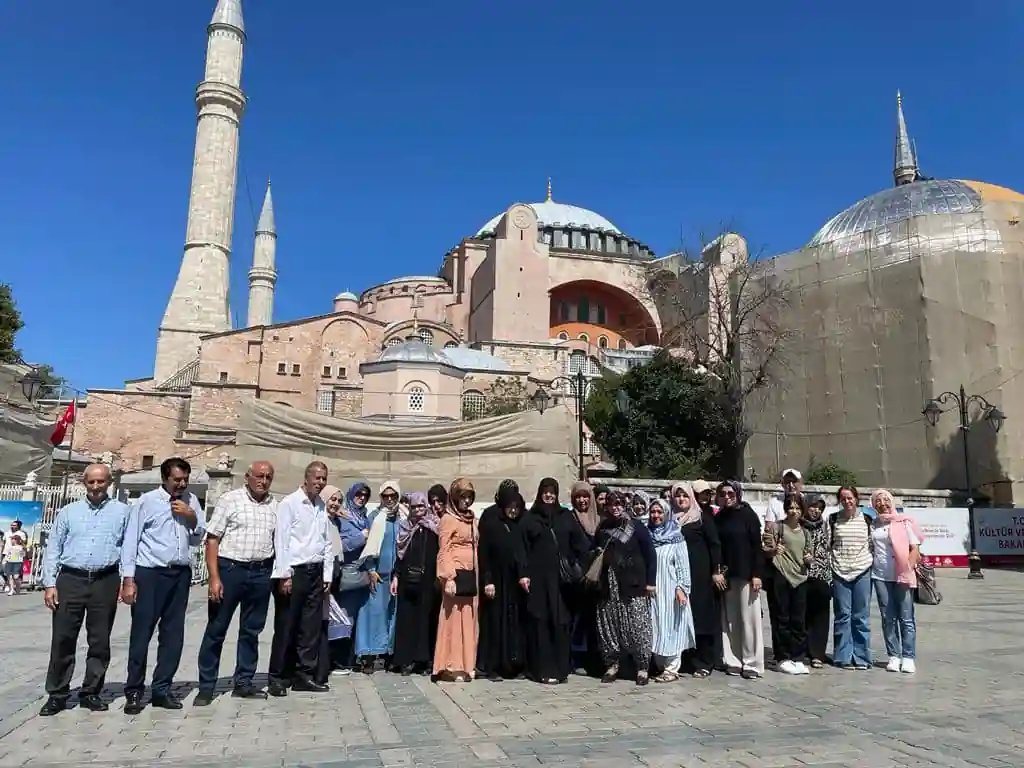
[[[679,524],[690,561],[690,611],[693,616],[694,645],[683,653],[683,667],[696,678],[711,675],[718,663],[716,648],[722,640],[720,596],[725,586],[722,575],[722,545],[715,527],[715,514],[697,503],[687,482],[670,488],[671,514]]]

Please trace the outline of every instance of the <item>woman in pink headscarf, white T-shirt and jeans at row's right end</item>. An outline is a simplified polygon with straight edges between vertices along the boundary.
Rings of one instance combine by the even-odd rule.
[[[918,563],[924,536],[912,517],[896,512],[889,490],[871,494],[874,545],[871,580],[882,616],[889,672],[918,671],[918,623],[913,612],[913,590],[918,586]]]

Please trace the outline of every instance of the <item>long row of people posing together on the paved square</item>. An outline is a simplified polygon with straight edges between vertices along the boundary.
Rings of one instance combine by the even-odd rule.
[[[161,465],[163,484],[128,507],[108,496],[108,467],[86,469],[86,498],[57,515],[43,567],[53,637],[41,714],[66,709],[83,622],[88,653],[83,707],[110,664],[119,601],[131,606],[125,713],[143,709],[150,642],[159,628],[152,703],[177,710],[190,585],[189,548],[205,542],[208,616],[194,706],[215,695],[227,629],[240,613],[231,695],[322,692],[332,674],[429,673],[437,681],[520,676],[549,685],[569,674],[638,685],[713,671],[757,679],[765,672],[760,593],[767,593],[772,649],[781,673],[822,667],[833,624],[833,664],[871,665],[871,585],[883,618],[888,669],[915,670],[913,595],[922,535],[896,513],[892,495],[855,488],[841,511],[809,503],[797,470],[782,476],[764,521],[739,483],[677,482],[662,498],[541,481],[527,505],[504,480],[477,519],[472,482],[403,494],[328,484],[313,462],[302,485],[278,499],[273,467],[256,462],[243,487],[208,521],[188,492],[190,467]],[[119,578],[120,577],[120,578]],[[254,685],[259,636],[273,602],[264,691]]]

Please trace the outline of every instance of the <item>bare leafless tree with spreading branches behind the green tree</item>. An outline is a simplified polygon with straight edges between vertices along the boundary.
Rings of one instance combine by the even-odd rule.
[[[713,239],[701,237],[697,251],[684,248],[653,262],[641,287],[662,317],[662,346],[721,381],[737,477],[744,474],[752,434],[748,413],[763,407],[778,382],[794,336],[783,324],[791,286],[760,256],[723,229]]]

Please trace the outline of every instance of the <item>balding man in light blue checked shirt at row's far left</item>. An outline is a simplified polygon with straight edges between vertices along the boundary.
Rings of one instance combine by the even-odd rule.
[[[111,499],[111,470],[105,464],[85,468],[85,499],[57,513],[43,555],[43,602],[53,612],[50,664],[46,672],[49,698],[39,711],[50,717],[68,708],[75,674],[75,649],[85,623],[89,650],[79,703],[105,712],[99,697],[111,664],[111,631],[118,608],[118,562],[128,524],[128,506]]]

